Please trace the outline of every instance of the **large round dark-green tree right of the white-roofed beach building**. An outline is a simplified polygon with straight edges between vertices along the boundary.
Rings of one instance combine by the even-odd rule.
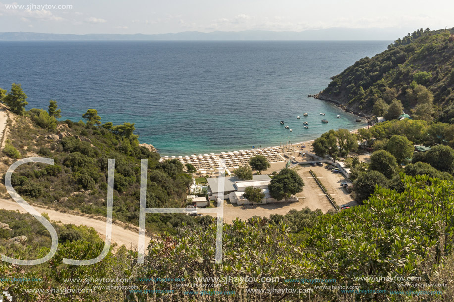
[[[276,200],[289,198],[303,190],[304,181],[294,170],[284,168],[271,179],[268,186],[271,197]]]

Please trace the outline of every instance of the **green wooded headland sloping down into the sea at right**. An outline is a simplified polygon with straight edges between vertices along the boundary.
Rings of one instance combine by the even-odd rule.
[[[417,30],[331,80],[319,98],[348,111],[371,115],[374,105],[376,113],[397,99],[407,113],[433,110],[433,118],[454,123],[454,28]]]

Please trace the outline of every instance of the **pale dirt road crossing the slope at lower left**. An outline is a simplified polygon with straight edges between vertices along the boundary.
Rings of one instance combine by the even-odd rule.
[[[102,238],[105,238],[105,222],[94,218],[81,217],[68,213],[61,213],[55,210],[45,209],[33,206],[39,213],[47,213],[50,220],[61,222],[64,224],[85,225],[93,227]],[[27,213],[18,203],[13,200],[6,200],[0,198],[0,208],[5,210],[19,210],[21,213]],[[127,248],[137,247],[139,240],[139,232],[127,230],[121,226],[112,224],[112,242],[117,243],[119,246],[125,245]],[[150,237],[145,237],[145,246],[148,246]]]

